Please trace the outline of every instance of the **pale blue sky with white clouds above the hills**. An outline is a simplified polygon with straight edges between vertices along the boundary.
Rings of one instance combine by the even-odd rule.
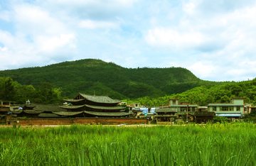
[[[256,1],[0,0],[0,70],[94,58],[256,77]]]

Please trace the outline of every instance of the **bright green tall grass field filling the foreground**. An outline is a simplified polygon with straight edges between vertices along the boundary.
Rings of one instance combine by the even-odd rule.
[[[0,165],[256,165],[251,123],[0,128]]]

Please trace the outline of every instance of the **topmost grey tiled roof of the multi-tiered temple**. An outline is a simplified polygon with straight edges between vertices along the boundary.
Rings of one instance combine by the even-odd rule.
[[[96,103],[118,104],[119,102],[122,102],[121,100],[113,100],[109,96],[93,96],[88,94],[80,94],[80,95],[85,97],[85,99],[94,101]]]

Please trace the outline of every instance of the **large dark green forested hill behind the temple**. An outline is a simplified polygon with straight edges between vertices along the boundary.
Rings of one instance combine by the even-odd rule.
[[[207,82],[181,67],[125,68],[112,62],[85,59],[61,62],[45,67],[0,71],[0,77],[11,77],[19,84],[40,86],[49,82],[73,98],[78,92],[108,95],[113,99],[159,97],[185,92],[193,87],[225,82]]]

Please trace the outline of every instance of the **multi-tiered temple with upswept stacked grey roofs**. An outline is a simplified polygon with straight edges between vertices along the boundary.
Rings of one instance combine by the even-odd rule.
[[[58,112],[60,116],[69,114],[82,117],[124,117],[131,113],[124,112],[125,106],[117,106],[122,101],[113,100],[109,96],[78,94],[74,99],[65,99],[68,104],[60,106],[67,111]],[[64,115],[65,114],[65,115]]]

